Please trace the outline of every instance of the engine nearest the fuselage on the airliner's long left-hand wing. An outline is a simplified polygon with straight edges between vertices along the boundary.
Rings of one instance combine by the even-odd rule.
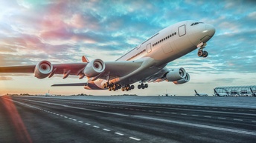
[[[93,61],[90,61],[86,68],[84,68],[83,73],[91,78],[99,75],[105,70],[105,63],[101,59],[95,59]]]

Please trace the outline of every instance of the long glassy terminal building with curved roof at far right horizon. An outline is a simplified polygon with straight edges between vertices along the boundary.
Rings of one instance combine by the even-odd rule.
[[[217,93],[227,93],[229,96],[251,96],[252,92],[256,93],[256,85],[215,87],[215,90]]]

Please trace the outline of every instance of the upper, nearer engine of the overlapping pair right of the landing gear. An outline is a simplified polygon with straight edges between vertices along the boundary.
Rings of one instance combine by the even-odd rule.
[[[186,70],[184,68],[176,68],[174,70],[170,70],[166,75],[166,79],[168,82],[179,81],[184,79],[186,76]]]

